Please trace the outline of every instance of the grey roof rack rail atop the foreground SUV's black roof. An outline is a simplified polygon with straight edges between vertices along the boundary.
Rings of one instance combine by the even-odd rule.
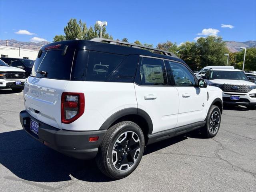
[[[122,42],[122,41],[117,41],[117,40],[112,40],[112,39],[104,39],[104,38],[93,38],[90,41],[95,41],[95,42],[105,42],[105,43],[109,43],[109,44],[123,44],[123,45],[128,45],[130,47],[133,48],[144,48],[144,49],[148,49],[148,50],[154,50],[154,51],[158,51],[161,52],[164,55],[168,55],[168,56],[172,56],[172,57],[176,57],[178,58],[174,53],[172,52],[168,52],[168,51],[164,51],[161,49],[156,49],[156,48],[152,48],[152,47],[147,47],[147,46],[143,46],[143,45],[137,45],[134,43],[128,43],[128,42]]]

